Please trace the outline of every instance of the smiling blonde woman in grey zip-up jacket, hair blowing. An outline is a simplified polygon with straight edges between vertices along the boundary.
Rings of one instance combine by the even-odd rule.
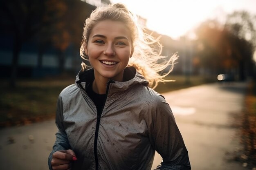
[[[50,169],[150,170],[155,151],[158,169],[191,169],[171,108],[148,87],[163,81],[157,72],[177,56],[157,64],[163,57],[151,42],[123,4],[92,12],[80,50],[92,68],[83,63],[76,84],[58,97]]]

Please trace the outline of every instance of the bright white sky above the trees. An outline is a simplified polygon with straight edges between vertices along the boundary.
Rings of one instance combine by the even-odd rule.
[[[178,40],[207,20],[225,22],[227,13],[246,10],[256,15],[256,0],[111,0],[126,4],[133,13],[147,20],[146,27]]]

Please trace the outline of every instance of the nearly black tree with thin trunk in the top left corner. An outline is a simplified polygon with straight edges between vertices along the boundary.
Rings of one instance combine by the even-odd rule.
[[[22,44],[42,27],[45,11],[42,0],[5,0],[0,2],[1,29],[13,35],[13,58],[10,86],[16,85],[18,58]]]

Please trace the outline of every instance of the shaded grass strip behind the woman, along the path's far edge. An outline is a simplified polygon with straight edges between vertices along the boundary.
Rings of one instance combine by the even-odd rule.
[[[0,127],[24,125],[55,116],[56,101],[66,86],[74,83],[75,77],[60,76],[45,79],[20,79],[16,88],[9,88],[8,81],[0,83]],[[186,82],[184,76],[170,76],[176,82],[159,83],[159,93],[204,84],[204,77],[192,76]]]

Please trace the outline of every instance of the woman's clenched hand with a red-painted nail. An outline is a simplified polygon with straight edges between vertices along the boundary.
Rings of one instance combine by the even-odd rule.
[[[76,161],[73,150],[59,150],[52,155],[52,170],[71,170],[72,161]]]

